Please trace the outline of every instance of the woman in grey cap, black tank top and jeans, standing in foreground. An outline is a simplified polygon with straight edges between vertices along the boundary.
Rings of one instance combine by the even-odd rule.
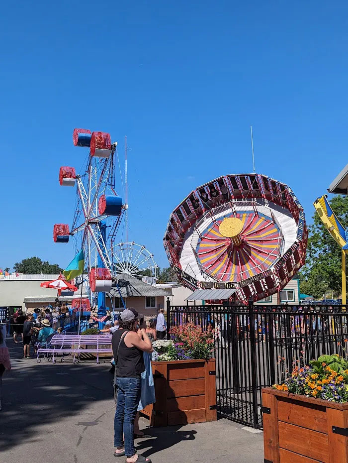
[[[138,320],[142,322],[139,325]],[[142,338],[138,336],[141,330]],[[126,455],[127,463],[151,463],[135,452],[134,420],[141,398],[141,376],[145,371],[143,352],[153,351],[146,334],[144,315],[133,309],[121,313],[119,329],[112,335],[112,352],[115,358],[115,388],[117,406],[114,419],[115,457]],[[124,438],[123,438],[124,437]]]

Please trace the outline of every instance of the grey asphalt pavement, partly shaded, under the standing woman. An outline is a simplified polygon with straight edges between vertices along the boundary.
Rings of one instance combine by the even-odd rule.
[[[3,376],[0,412],[1,463],[109,463],[113,457],[112,376],[109,363],[56,364],[21,357],[10,348],[12,370]],[[152,439],[136,448],[157,462],[263,462],[263,435],[225,419],[167,428],[140,428]]]

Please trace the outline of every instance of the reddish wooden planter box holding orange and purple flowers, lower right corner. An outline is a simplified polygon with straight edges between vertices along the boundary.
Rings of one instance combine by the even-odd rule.
[[[264,463],[348,462],[348,403],[262,389]]]

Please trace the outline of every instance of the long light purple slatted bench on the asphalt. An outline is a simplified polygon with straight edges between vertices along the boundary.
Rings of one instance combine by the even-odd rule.
[[[37,350],[36,361],[40,363],[40,353],[52,355],[52,362],[56,363],[55,355],[62,355],[61,361],[64,361],[64,354],[74,355],[74,364],[76,356],[80,357],[81,353],[96,353],[96,362],[99,363],[99,353],[109,353],[112,355],[111,346],[112,335],[54,335],[49,347],[39,347]],[[87,346],[86,348],[81,346]]]

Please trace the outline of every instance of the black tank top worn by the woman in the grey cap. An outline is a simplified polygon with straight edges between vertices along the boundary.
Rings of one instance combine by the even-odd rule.
[[[117,347],[125,330],[118,329],[112,335],[112,352],[117,357]],[[127,336],[127,335],[126,335]],[[143,351],[138,347],[127,347],[124,344],[124,336],[118,350],[117,377],[118,378],[140,378],[145,371]]]

